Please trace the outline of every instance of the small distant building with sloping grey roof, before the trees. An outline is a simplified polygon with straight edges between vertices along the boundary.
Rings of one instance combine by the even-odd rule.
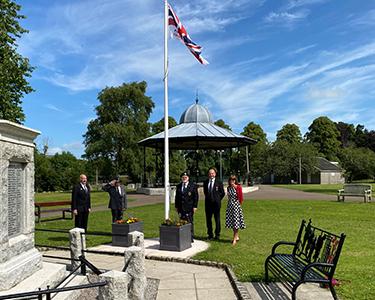
[[[331,162],[323,157],[317,158],[316,172],[302,173],[302,183],[336,184],[345,183],[343,170],[338,163]]]

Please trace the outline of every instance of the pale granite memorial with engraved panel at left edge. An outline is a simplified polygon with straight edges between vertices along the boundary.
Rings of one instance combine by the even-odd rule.
[[[42,268],[34,246],[34,139],[40,132],[0,120],[0,291]]]

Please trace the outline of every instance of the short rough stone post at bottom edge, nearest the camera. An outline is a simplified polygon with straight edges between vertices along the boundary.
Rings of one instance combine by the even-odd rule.
[[[128,276],[124,272],[108,271],[99,277],[107,281],[107,285],[99,287],[99,300],[128,299]]]

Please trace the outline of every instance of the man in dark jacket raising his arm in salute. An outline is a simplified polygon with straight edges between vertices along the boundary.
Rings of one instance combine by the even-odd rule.
[[[109,194],[108,208],[112,211],[112,223],[122,219],[122,211],[127,209],[128,202],[125,187],[118,177],[102,187]]]

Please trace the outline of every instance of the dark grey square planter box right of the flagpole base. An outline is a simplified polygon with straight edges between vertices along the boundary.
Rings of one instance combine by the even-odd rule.
[[[191,247],[191,224],[160,226],[160,250],[183,251]]]

